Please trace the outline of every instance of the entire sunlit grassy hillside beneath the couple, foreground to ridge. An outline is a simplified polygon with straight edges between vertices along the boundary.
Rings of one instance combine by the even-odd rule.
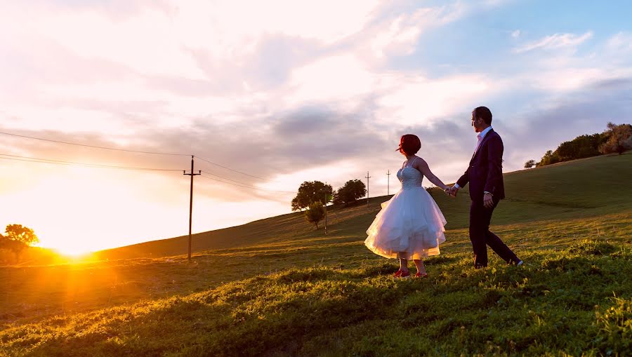
[[[626,356],[632,341],[632,154],[506,174],[493,229],[525,260],[471,267],[468,195],[429,278],[394,281],[364,248],[388,197],[100,252],[2,267],[0,356]],[[144,257],[143,257],[144,256]]]

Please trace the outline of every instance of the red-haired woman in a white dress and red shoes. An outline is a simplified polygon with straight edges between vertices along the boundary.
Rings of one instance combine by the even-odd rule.
[[[445,217],[432,196],[421,186],[423,176],[444,191],[447,186],[428,168],[426,161],[415,154],[421,148],[419,137],[402,135],[397,151],[406,156],[397,178],[400,191],[382,203],[382,210],[367,230],[364,245],[377,255],[399,258],[400,269],[395,278],[409,278],[408,260],[413,260],[418,278],[425,278],[423,257],[439,254],[439,244],[445,242]],[[446,191],[447,192],[447,191]]]

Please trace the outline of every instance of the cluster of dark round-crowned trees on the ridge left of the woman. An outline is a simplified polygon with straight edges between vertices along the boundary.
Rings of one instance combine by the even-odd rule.
[[[329,202],[343,204],[357,201],[367,194],[367,187],[360,180],[349,180],[343,187],[336,191],[331,184],[320,181],[305,181],[298,187],[296,197],[292,199],[292,210],[305,210],[305,220],[314,224],[318,229],[318,223],[324,218],[324,206]]]

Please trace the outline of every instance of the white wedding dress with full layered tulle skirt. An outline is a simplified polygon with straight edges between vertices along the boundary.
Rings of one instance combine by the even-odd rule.
[[[367,230],[369,237],[364,245],[387,258],[416,260],[438,255],[439,245],[445,242],[446,220],[433,197],[421,186],[423,175],[404,162],[397,178],[402,188],[382,203],[382,210]]]

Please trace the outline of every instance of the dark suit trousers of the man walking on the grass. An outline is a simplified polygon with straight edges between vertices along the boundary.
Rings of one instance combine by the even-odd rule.
[[[519,262],[518,257],[501,238],[489,231],[492,213],[498,203],[499,201],[494,199],[494,207],[485,208],[482,201],[472,201],[470,206],[470,241],[474,250],[474,266],[477,268],[487,267],[487,245],[505,262]]]

